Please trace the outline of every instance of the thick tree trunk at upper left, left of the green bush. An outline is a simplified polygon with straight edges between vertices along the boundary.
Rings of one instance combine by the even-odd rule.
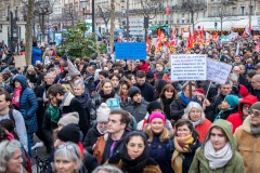
[[[35,0],[28,0],[28,12],[27,12],[27,21],[26,21],[27,25],[26,25],[26,32],[25,32],[26,65],[31,64],[34,6],[35,6]]]

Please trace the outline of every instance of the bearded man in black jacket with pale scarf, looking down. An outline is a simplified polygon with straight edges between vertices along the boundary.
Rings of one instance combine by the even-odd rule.
[[[79,128],[83,133],[83,136],[86,136],[89,123],[84,108],[79,101],[70,92],[66,92],[61,84],[51,85],[48,90],[48,97],[50,101],[60,106],[63,116],[73,111],[77,111],[79,114]]]

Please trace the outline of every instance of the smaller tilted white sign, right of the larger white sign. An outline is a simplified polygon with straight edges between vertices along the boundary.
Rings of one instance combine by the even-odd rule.
[[[207,80],[224,84],[232,65],[207,58]]]

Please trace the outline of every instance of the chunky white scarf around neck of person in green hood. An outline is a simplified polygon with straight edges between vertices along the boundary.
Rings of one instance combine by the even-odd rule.
[[[233,156],[231,144],[226,143],[223,148],[216,151],[212,143],[208,141],[205,144],[204,156],[208,159],[210,169],[223,168]]]

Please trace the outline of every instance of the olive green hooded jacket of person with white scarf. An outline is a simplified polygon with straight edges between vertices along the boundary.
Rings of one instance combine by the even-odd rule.
[[[188,170],[188,173],[245,173],[243,158],[236,151],[236,142],[232,135],[231,123],[225,120],[219,119],[210,127],[209,132],[211,132],[211,129],[213,127],[220,127],[225,132],[225,134],[231,143],[233,157],[225,164],[224,168],[219,168],[217,170],[210,169],[208,160],[204,156],[205,144],[209,139],[209,133],[208,133],[203,146],[196,150],[196,154],[194,156],[194,159],[193,159],[192,165]]]

